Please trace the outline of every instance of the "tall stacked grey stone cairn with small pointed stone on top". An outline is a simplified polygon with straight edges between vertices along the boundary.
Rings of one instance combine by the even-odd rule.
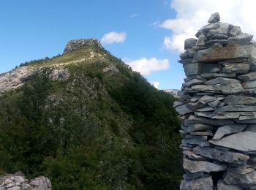
[[[256,46],[214,13],[184,42],[180,189],[256,189]]]

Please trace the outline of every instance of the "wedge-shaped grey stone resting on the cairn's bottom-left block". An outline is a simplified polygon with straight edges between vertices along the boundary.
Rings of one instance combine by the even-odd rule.
[[[214,164],[208,161],[192,161],[183,159],[183,167],[191,173],[194,172],[219,172],[227,169],[225,165]]]

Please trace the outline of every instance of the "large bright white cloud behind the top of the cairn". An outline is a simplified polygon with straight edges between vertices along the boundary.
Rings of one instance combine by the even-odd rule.
[[[242,31],[256,36],[255,0],[173,0],[170,6],[176,11],[176,18],[159,25],[171,31],[164,39],[168,50],[183,52],[184,40],[195,37],[214,12],[219,12],[221,22],[241,26]]]

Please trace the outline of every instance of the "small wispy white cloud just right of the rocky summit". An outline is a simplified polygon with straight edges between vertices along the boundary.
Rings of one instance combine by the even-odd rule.
[[[126,38],[127,34],[125,32],[111,31],[105,34],[100,41],[102,44],[122,43]]]

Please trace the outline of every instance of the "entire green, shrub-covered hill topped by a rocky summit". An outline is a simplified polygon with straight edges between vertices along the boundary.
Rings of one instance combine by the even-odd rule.
[[[0,75],[0,172],[53,189],[178,189],[173,101],[97,40],[72,40]]]

